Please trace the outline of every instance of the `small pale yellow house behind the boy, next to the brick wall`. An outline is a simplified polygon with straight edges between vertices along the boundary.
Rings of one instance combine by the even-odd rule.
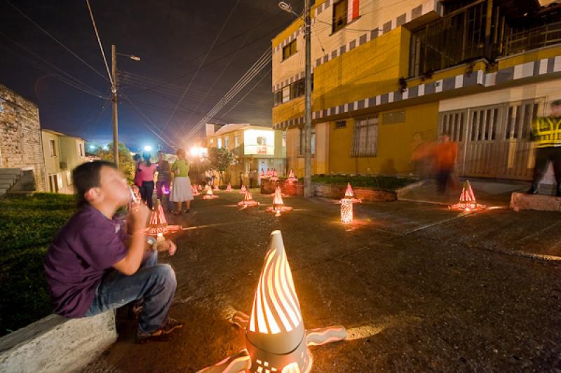
[[[86,140],[53,130],[42,130],[47,190],[72,193],[72,170],[87,162]]]

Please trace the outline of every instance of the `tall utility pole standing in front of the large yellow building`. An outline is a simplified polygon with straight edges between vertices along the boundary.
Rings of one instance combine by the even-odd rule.
[[[304,154],[304,197],[312,197],[311,187],[311,17],[310,0],[304,1],[304,41],[306,41],[306,70],[304,77],[305,113],[304,132],[306,149]]]

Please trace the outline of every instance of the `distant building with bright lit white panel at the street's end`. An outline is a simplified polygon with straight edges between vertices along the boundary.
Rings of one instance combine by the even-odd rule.
[[[229,149],[237,159],[232,165],[226,182],[256,186],[258,172],[276,169],[280,177],[286,170],[286,133],[269,127],[233,123],[224,126],[206,125],[206,136],[201,140],[204,148]]]

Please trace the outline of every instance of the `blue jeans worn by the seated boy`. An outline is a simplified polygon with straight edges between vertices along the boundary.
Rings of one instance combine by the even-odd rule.
[[[104,276],[84,316],[95,316],[144,298],[138,319],[140,332],[153,333],[165,325],[177,287],[175,272],[168,264],[158,264],[158,252],[147,255],[148,259],[132,276],[126,276],[116,269]]]

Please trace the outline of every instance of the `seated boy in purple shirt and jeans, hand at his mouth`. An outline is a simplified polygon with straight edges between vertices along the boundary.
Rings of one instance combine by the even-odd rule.
[[[114,218],[131,198],[115,165],[83,163],[72,178],[80,210],[57,233],[45,258],[55,313],[81,318],[143,301],[137,342],[182,327],[168,317],[177,286],[175,273],[168,264],[158,264],[158,252],[147,245],[147,206],[140,203],[130,212],[133,234],[128,236],[123,222]],[[175,244],[168,240],[165,246],[175,254]]]

